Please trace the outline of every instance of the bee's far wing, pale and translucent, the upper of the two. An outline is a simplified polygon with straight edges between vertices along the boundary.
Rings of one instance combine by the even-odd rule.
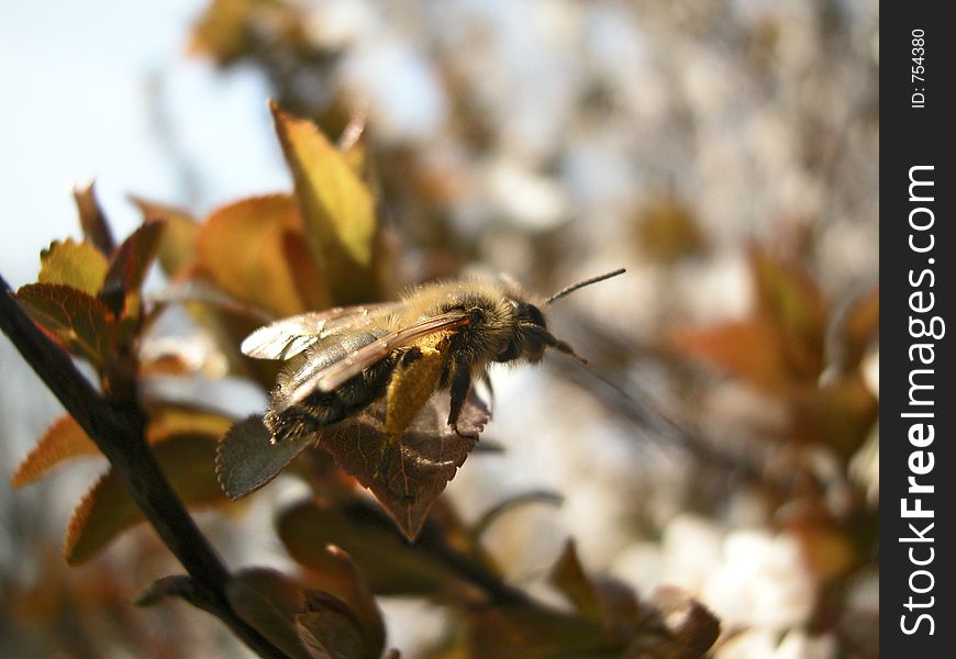
[[[289,359],[331,334],[348,327],[368,326],[400,306],[400,302],[336,306],[281,319],[245,337],[240,349],[256,359]]]

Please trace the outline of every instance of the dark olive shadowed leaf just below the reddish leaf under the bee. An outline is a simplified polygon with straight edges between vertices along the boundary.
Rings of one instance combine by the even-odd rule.
[[[289,555],[320,579],[338,570],[325,549],[334,544],[349,554],[375,593],[438,596],[462,588],[454,573],[409,545],[378,509],[360,499],[299,503],[279,515],[278,532]]]

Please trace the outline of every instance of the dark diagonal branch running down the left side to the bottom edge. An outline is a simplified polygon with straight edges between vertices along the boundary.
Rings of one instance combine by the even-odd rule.
[[[70,357],[26,316],[2,276],[0,330],[107,456],[143,515],[192,577],[207,604],[203,608],[260,656],[285,657],[230,606],[225,596],[230,573],[153,458],[144,439],[146,416],[142,407],[111,402],[93,389]]]

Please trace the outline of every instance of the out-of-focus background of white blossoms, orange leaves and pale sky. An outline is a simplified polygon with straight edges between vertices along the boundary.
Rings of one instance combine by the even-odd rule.
[[[508,580],[554,599],[574,537],[589,572],[709,606],[716,657],[877,657],[878,29],[876,0],[4,2],[0,271],[33,281],[79,235],[92,177],[118,236],[131,193],[202,217],[290,189],[268,98],[333,138],[364,115],[397,288],[627,268],[553,310],[590,369],[493,372],[503,451],[448,487],[466,520],[562,498],[483,536]],[[5,338],[0,369],[9,480],[58,405]],[[66,568],[102,468],[0,487],[0,654],[245,651],[185,605],[129,605],[174,569],[148,529]],[[289,566],[270,511],[296,494],[203,528]],[[382,607],[403,657],[451,656],[443,608]]]

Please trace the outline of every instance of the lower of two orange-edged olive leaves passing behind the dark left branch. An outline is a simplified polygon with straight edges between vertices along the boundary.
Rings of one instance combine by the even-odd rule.
[[[208,437],[181,435],[153,449],[163,473],[179,499],[190,505],[225,502],[212,471],[215,443]],[[112,470],[87,492],[73,513],[64,544],[66,561],[76,566],[92,558],[143,514]]]

